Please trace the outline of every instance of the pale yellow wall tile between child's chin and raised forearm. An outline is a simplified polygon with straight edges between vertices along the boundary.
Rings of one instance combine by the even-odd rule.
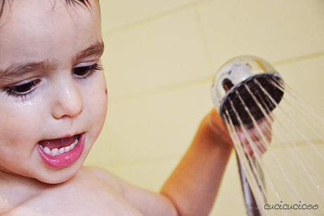
[[[211,107],[210,83],[108,104],[106,125],[88,160],[109,164],[182,155]]]

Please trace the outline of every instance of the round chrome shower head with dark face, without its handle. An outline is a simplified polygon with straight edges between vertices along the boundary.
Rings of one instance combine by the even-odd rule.
[[[284,94],[282,84],[280,74],[265,60],[238,56],[218,69],[211,94],[223,119],[230,118],[235,126],[239,126],[240,121],[249,126],[253,124],[251,116],[258,121],[265,112],[268,114],[275,109]]]

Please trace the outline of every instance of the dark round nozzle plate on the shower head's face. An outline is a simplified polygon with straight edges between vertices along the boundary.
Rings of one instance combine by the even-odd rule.
[[[232,87],[220,104],[220,114],[233,125],[253,125],[282,100],[283,80],[274,73],[251,76]],[[253,118],[253,119],[252,119]]]

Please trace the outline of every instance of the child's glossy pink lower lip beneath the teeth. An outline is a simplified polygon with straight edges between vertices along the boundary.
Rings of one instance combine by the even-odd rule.
[[[40,145],[38,146],[38,152],[42,160],[45,162],[45,164],[49,165],[50,167],[55,168],[63,168],[68,167],[70,164],[73,164],[82,154],[83,150],[85,149],[85,133],[80,134],[78,138],[79,142],[77,145],[75,145],[75,148],[73,150],[70,150],[69,152],[65,152],[61,155],[52,156],[46,154]]]

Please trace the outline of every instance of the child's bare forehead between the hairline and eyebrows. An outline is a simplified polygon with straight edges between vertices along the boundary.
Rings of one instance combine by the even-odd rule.
[[[15,61],[56,59],[101,41],[99,3],[68,5],[65,0],[13,0],[0,19],[0,68]]]

